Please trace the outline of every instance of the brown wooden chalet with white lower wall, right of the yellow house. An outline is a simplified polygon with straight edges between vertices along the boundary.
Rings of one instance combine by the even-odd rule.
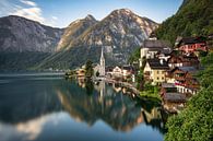
[[[196,94],[199,82],[192,77],[198,70],[194,67],[179,67],[167,71],[166,81],[174,83],[180,93]]]

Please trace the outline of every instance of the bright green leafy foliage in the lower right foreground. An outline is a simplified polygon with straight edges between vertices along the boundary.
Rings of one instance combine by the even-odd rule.
[[[199,74],[201,90],[185,110],[168,119],[166,141],[213,140],[213,54],[204,57],[202,64],[205,70]]]

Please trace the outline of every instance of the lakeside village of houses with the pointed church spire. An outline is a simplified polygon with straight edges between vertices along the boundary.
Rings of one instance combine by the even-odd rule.
[[[212,39],[212,36],[208,39]],[[158,90],[157,96],[163,108],[168,113],[179,113],[200,89],[196,74],[203,69],[200,58],[208,55],[209,50],[204,37],[177,37],[173,47],[151,34],[140,47],[140,58],[131,64],[105,67],[102,48],[99,63],[91,64],[92,80],[118,83],[138,95],[145,90],[145,84],[152,85]],[[67,72],[67,77],[72,74],[84,80],[87,77],[86,66]]]

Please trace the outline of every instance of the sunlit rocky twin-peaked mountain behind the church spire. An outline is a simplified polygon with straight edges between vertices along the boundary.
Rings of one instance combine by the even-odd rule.
[[[74,68],[86,59],[97,62],[104,48],[106,63],[125,63],[129,55],[158,26],[128,9],[113,11],[102,21],[86,16],[69,25],[58,44],[57,52],[38,68]]]

